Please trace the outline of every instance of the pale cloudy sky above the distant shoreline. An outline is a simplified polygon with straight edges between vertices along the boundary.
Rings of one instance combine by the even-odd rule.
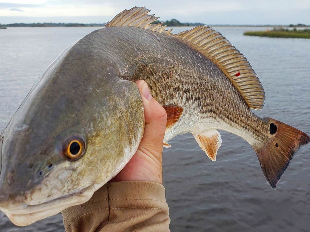
[[[105,23],[133,6],[162,21],[310,25],[310,0],[0,0],[0,24]]]

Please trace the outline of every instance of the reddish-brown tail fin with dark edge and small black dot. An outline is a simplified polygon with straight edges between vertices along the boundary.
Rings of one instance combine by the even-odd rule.
[[[267,182],[273,189],[290,164],[294,153],[310,142],[307,134],[272,118],[269,121],[269,139],[262,144],[252,145]]]

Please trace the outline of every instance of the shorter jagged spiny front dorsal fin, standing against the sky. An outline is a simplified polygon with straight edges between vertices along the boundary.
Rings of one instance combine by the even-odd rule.
[[[155,20],[159,19],[159,17],[148,15],[148,12],[150,12],[150,10],[146,9],[144,6],[135,6],[130,10],[124,10],[116,15],[110,22],[107,22],[104,27],[131,26],[145,28],[170,35],[172,29],[165,30],[166,26],[163,26],[163,23],[151,24]]]

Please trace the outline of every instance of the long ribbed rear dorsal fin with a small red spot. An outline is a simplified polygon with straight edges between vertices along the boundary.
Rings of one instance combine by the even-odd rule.
[[[224,72],[250,108],[263,108],[265,92],[256,73],[247,59],[222,34],[203,25],[175,36],[198,46]]]

